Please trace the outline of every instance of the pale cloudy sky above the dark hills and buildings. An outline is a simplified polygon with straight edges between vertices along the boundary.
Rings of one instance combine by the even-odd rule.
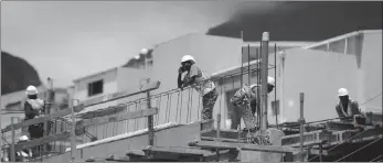
[[[248,7],[237,1],[2,1],[1,51],[26,59],[43,83],[51,77],[54,86],[67,87],[75,78],[121,66],[141,48],[205,33]]]

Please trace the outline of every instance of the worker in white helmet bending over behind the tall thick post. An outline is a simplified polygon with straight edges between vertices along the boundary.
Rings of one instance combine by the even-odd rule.
[[[273,91],[275,87],[275,79],[270,76],[267,77],[267,89],[268,94]],[[231,104],[237,106],[241,109],[241,117],[245,123],[246,129],[254,130],[256,128],[256,118],[254,116],[257,104],[257,84],[248,86],[245,84],[241,89],[238,89],[234,96],[231,98]]]

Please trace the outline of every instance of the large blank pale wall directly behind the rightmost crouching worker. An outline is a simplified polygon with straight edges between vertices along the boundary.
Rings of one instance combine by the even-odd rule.
[[[338,117],[334,105],[341,87],[349,89],[351,98],[358,97],[355,56],[299,48],[286,53],[281,112],[287,121],[299,118],[299,93],[305,93],[307,121]]]

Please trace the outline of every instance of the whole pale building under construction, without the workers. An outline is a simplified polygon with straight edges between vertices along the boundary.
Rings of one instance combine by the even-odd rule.
[[[381,34],[381,30],[358,31],[284,51],[269,42],[268,33],[264,33],[259,48],[241,41],[208,37],[201,44],[234,44],[227,47],[228,52],[236,50],[238,54],[227,58],[220,57],[222,54],[209,56],[233,66],[219,65],[208,70],[220,94],[214,121],[201,121],[202,98],[198,93],[192,88],[171,89],[175,86],[174,77],[162,75],[178,69],[181,50],[171,48],[180,56],[156,58],[168,54],[174,44],[190,44],[199,36],[161,44],[152,50],[153,66],[168,66],[138,77],[139,88],[132,90],[132,85],[116,84],[121,89],[87,99],[78,93],[71,109],[13,121],[2,129],[2,156],[15,161],[18,151],[40,145],[40,156],[25,156],[24,161],[382,161]],[[213,52],[213,47],[206,48]],[[195,54],[202,68],[212,64],[205,62],[206,54]],[[235,59],[242,64],[234,65]],[[117,76],[121,73],[116,70],[109,70],[115,78],[126,78]],[[260,98],[258,130],[244,130],[237,120],[241,116],[235,113],[238,108],[228,99],[244,84],[258,84],[265,90],[267,76],[276,78],[276,88],[272,96]],[[95,76],[91,78],[86,80],[97,80]],[[75,87],[85,85],[76,82]],[[364,123],[355,126],[338,119],[336,93],[341,87],[359,101]],[[46,137],[18,142],[22,128],[46,121],[53,123]]]

